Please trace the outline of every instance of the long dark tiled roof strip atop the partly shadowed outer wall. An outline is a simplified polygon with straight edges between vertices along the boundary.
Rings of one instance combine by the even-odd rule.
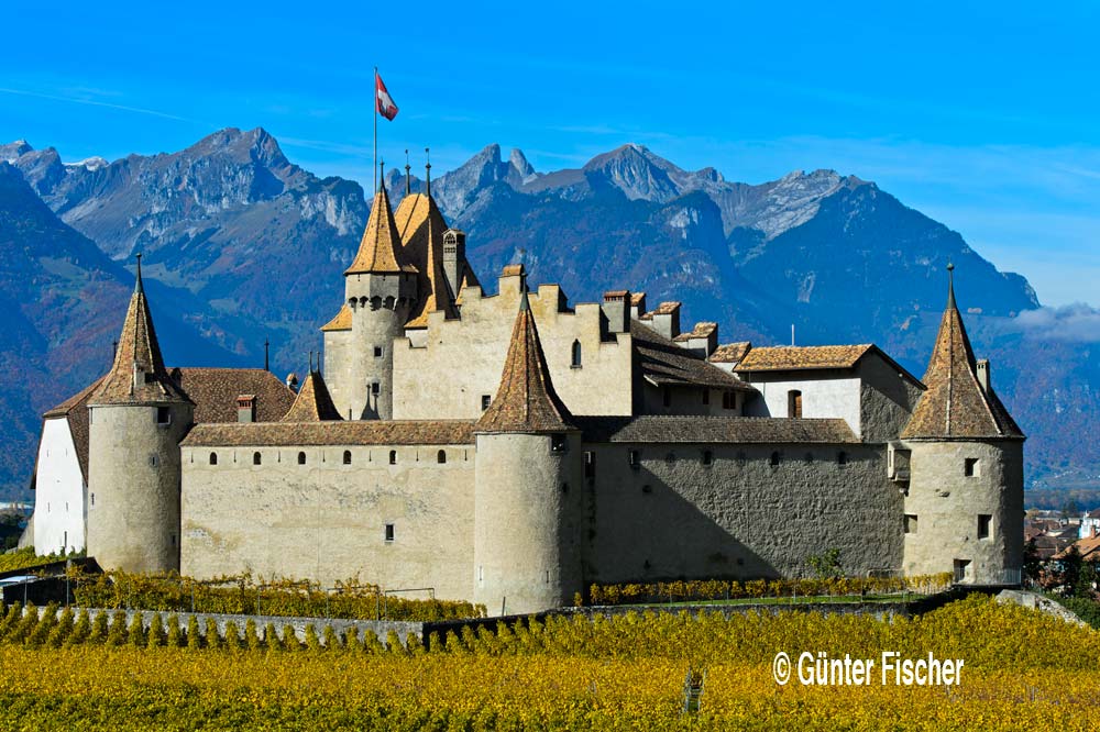
[[[584,442],[854,444],[842,419],[770,417],[578,417]]]

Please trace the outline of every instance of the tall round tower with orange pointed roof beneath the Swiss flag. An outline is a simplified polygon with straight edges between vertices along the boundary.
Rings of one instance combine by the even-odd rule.
[[[394,339],[417,304],[417,269],[399,256],[400,237],[384,176],[351,266],[344,308],[326,325],[324,358],[332,400],[345,419],[393,415]]]

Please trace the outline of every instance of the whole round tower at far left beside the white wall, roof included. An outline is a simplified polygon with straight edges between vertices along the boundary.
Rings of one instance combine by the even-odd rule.
[[[179,569],[179,441],[194,408],[164,368],[139,256],[114,362],[88,399],[88,554],[105,569]]]

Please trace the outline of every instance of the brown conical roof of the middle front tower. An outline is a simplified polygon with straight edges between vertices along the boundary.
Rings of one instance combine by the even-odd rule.
[[[527,291],[519,299],[519,314],[512,329],[512,344],[504,361],[496,399],[477,420],[475,432],[562,432],[574,429],[572,414],[550,380],[535,315]]]

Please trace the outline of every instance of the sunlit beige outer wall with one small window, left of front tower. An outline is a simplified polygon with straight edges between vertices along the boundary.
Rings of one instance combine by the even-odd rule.
[[[473,445],[185,446],[180,572],[308,577],[324,587],[358,577],[468,599],[474,464]]]

